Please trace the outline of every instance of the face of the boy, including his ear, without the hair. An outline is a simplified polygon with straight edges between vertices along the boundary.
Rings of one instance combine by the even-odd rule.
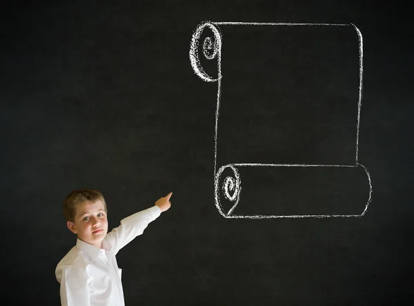
[[[67,222],[69,230],[77,234],[81,241],[101,247],[103,238],[108,233],[108,219],[101,201],[83,202],[78,205],[75,222]]]

